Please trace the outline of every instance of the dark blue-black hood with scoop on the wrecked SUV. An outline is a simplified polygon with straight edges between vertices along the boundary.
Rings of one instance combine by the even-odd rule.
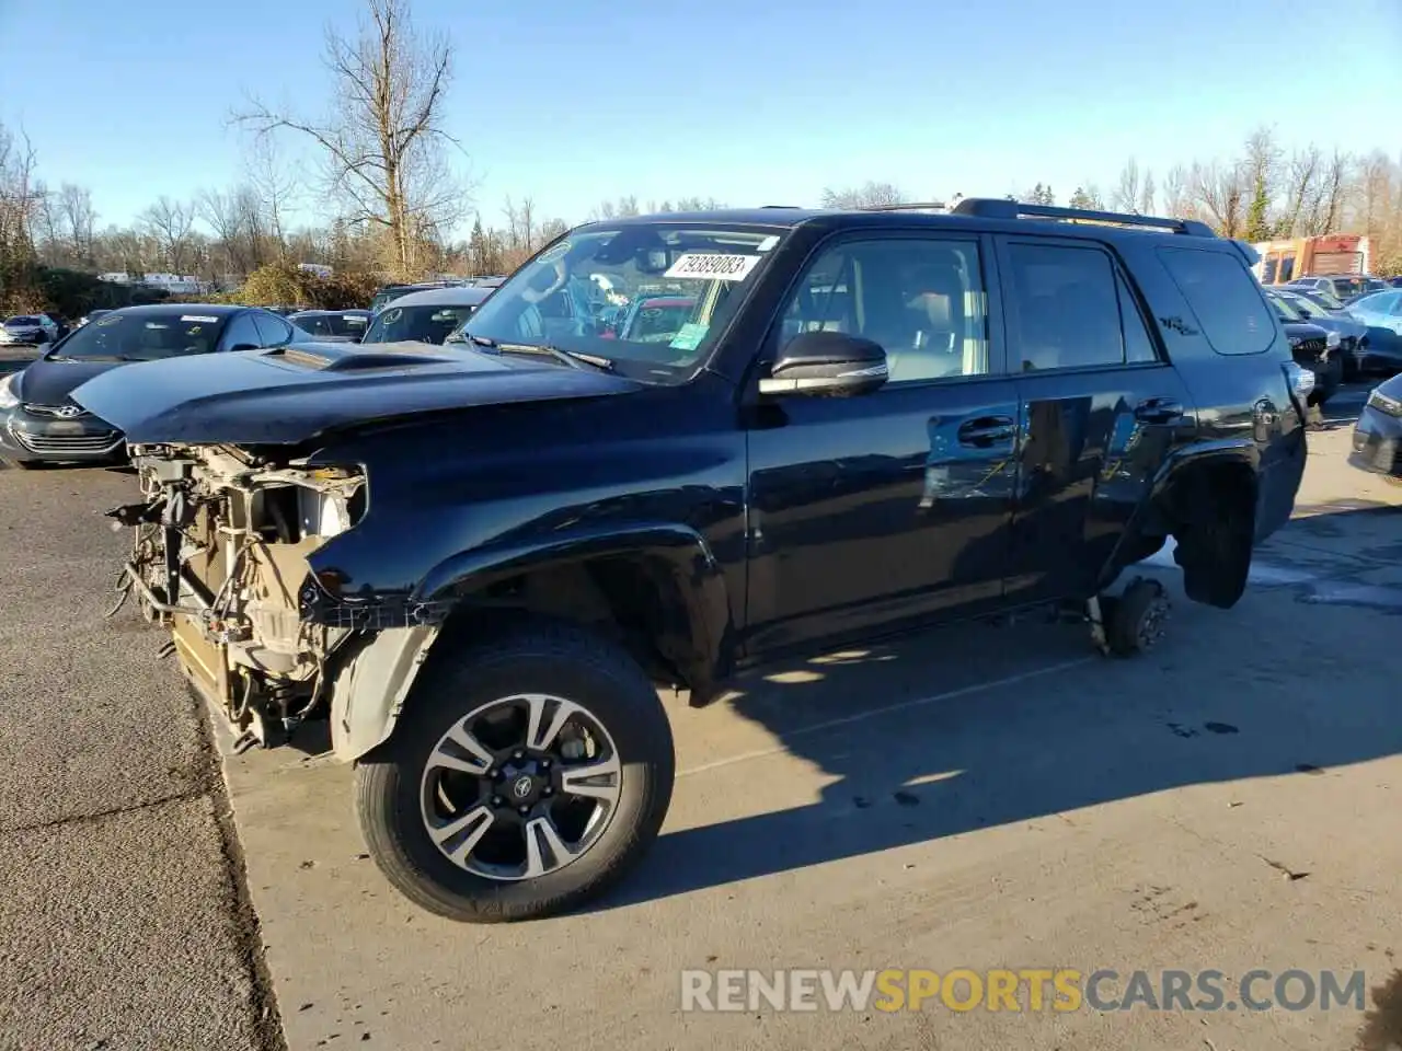
[[[474,405],[641,390],[621,376],[428,343],[299,343],[115,369],[73,399],[132,444],[300,444]]]

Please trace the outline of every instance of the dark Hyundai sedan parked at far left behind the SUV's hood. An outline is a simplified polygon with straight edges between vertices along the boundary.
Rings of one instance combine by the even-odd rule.
[[[72,399],[80,384],[135,362],[306,339],[280,317],[250,307],[181,303],[108,311],[0,380],[0,457],[21,467],[121,460],[118,426]]]

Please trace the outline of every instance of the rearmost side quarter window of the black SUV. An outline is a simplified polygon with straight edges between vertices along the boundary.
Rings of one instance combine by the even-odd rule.
[[[1159,258],[1220,355],[1259,355],[1276,339],[1260,286],[1231,252],[1159,248]]]

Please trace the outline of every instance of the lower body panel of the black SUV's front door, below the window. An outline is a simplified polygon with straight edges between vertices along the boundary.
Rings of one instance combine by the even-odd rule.
[[[750,433],[756,652],[1002,596],[1011,380],[792,398]]]

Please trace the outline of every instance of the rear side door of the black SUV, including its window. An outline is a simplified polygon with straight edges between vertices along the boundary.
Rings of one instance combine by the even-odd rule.
[[[1106,245],[998,238],[1016,373],[1008,600],[1082,596],[1195,411]]]

